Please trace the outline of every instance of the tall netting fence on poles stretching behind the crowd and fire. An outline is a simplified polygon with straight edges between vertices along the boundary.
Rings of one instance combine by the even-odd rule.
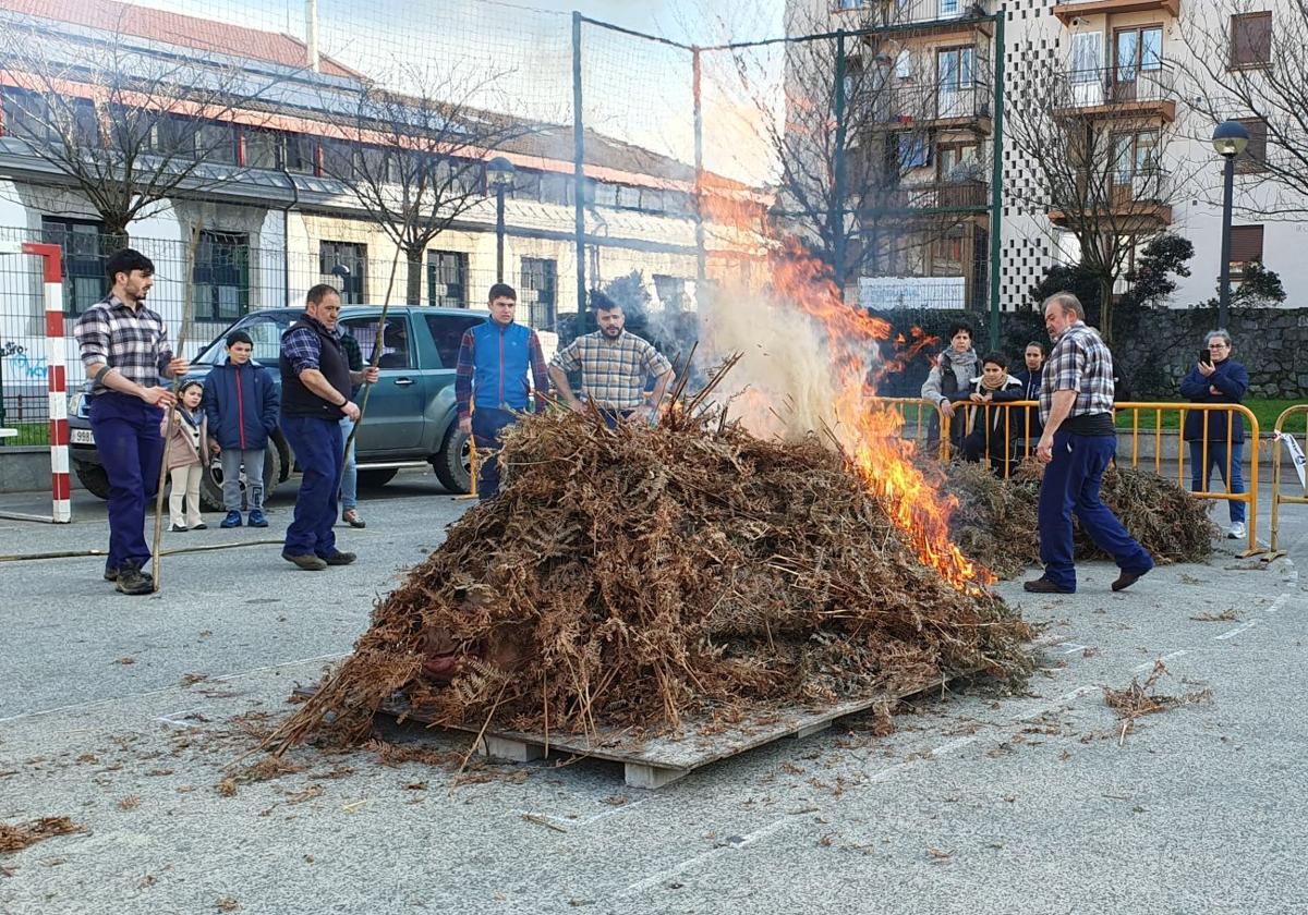
[[[388,291],[476,308],[502,277],[519,289],[522,319],[564,340],[586,328],[586,297],[602,289],[636,327],[684,349],[705,290],[766,288],[785,238],[825,264],[850,305],[914,320],[980,319],[989,306],[1002,21],[976,7],[814,0],[787,17],[789,35],[718,41],[742,33],[705,17],[687,43],[493,0],[421,16],[396,0],[319,0],[315,20],[254,0],[178,0],[164,18],[152,1],[107,5],[116,21],[76,4],[0,16],[0,68],[39,68],[14,41],[24,30],[75,51],[114,33],[123,59],[103,58],[103,43],[78,58],[88,85],[126,67],[139,88],[161,46],[192,50],[190,89],[213,90],[222,116],[101,131],[82,158],[140,142],[133,162],[145,167],[186,145],[170,167],[188,169],[188,183],[133,213],[126,234],[156,263],[150,302],[174,335],[190,271],[194,342],[251,310],[298,305],[317,282],[347,302]],[[65,48],[60,73],[68,60]],[[71,331],[103,295],[122,235],[107,229],[111,195],[50,154],[84,140],[97,115],[75,99],[60,133],[54,89],[39,98],[39,78],[22,85],[37,92],[4,90],[0,166],[13,193],[0,226],[13,227],[0,237],[64,248]],[[166,108],[177,88],[156,89]],[[217,89],[249,98],[222,108]],[[106,110],[132,118],[126,105]],[[489,170],[493,154],[513,174]],[[112,184],[123,165],[110,165],[101,178]],[[447,180],[445,199],[403,210],[411,173]],[[370,196],[371,179],[385,188]],[[44,418],[42,322],[34,271],[0,263],[9,425]],[[73,387],[75,352],[68,363]]]

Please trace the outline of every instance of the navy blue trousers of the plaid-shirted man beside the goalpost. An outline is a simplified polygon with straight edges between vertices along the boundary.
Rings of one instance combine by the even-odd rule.
[[[145,542],[145,507],[158,491],[164,410],[118,391],[90,401],[95,451],[109,477],[109,558],[106,569],[137,567],[150,561]]]

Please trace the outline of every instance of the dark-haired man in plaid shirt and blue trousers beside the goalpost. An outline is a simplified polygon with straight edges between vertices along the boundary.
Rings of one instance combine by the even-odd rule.
[[[73,327],[90,382],[90,427],[105,476],[109,477],[109,558],[105,578],[128,595],[150,593],[144,571],[150,561],[145,542],[145,506],[158,489],[164,409],[177,399],[160,384],[161,375],[181,378],[187,363],[174,358],[167,328],[145,306],[154,285],[154,264],[123,248],[106,264],[109,295],[88,308]]]

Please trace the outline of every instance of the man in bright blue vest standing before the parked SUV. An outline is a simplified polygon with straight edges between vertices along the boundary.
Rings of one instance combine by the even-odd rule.
[[[487,322],[463,333],[454,375],[459,431],[472,435],[481,459],[477,498],[483,502],[500,494],[500,433],[515,413],[527,409],[532,388],[538,412],[544,409],[549,391],[536,332],[513,320],[518,293],[497,282],[490,286],[489,301]]]

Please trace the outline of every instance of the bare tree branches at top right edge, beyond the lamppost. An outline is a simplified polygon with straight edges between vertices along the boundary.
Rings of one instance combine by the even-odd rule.
[[[1236,159],[1247,191],[1236,207],[1266,218],[1308,213],[1308,0],[1210,0],[1186,9],[1181,68],[1193,92],[1196,139],[1243,119],[1249,149]]]

